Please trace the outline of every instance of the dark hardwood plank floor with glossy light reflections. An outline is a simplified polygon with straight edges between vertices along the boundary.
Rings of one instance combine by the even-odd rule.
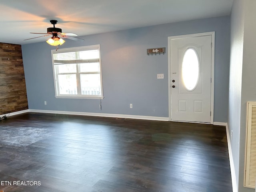
[[[232,192],[226,130],[26,113],[0,121],[4,192]]]

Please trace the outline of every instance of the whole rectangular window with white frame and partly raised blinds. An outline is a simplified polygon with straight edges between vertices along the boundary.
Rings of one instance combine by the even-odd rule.
[[[100,45],[52,50],[56,98],[103,98]]]

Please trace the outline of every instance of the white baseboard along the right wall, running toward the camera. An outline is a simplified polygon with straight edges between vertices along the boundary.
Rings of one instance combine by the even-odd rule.
[[[237,184],[236,184],[236,172],[235,172],[235,166],[234,166],[234,160],[233,160],[231,142],[230,142],[230,136],[229,136],[229,130],[228,130],[228,123],[226,123],[226,133],[227,133],[227,141],[228,141],[228,155],[229,155],[229,162],[230,162],[232,188],[233,188],[233,192],[238,192]]]

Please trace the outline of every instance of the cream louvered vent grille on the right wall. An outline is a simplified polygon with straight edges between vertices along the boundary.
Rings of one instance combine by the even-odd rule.
[[[256,182],[256,102],[247,102],[246,160],[244,186],[255,188]]]

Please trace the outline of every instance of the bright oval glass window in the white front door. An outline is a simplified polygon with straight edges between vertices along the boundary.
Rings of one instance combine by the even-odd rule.
[[[199,61],[194,49],[186,50],[182,60],[182,80],[187,90],[196,88],[199,78]]]

